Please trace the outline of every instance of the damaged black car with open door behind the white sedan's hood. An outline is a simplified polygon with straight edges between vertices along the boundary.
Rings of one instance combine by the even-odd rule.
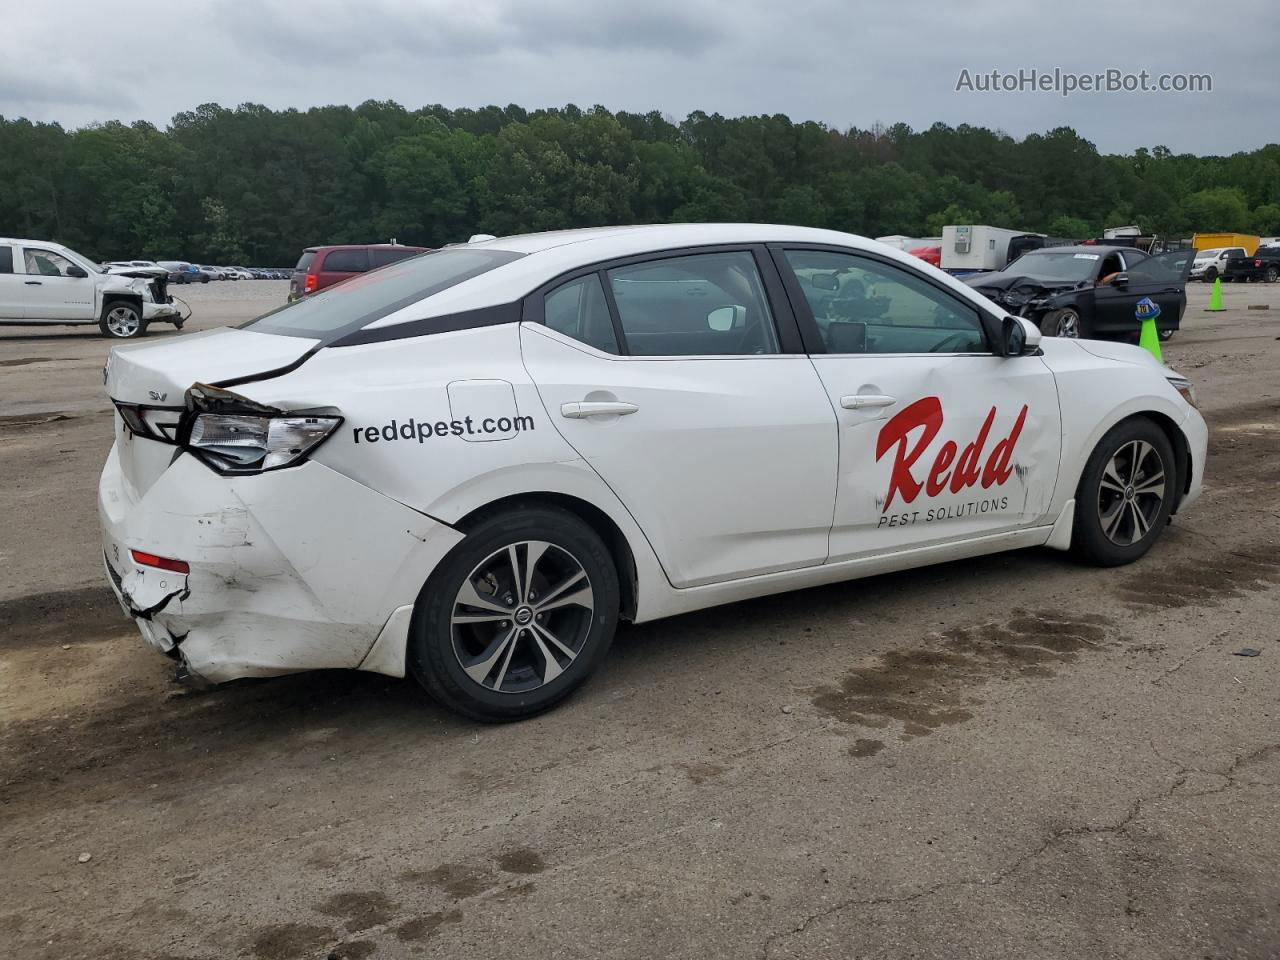
[[[1161,339],[1174,335],[1187,308],[1187,275],[1196,251],[1149,256],[1133,247],[1046,247],[1004,270],[973,274],[965,283],[1050,337],[1135,339],[1138,302],[1160,307]]]

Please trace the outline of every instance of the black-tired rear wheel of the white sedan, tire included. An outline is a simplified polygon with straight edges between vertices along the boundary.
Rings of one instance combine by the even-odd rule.
[[[527,573],[534,548],[524,544],[539,543],[548,547]],[[512,573],[512,545],[516,562],[526,564],[520,579],[529,581],[527,598]],[[566,604],[552,609],[557,600],[582,594],[570,589],[581,582],[581,573],[588,580],[590,608]],[[461,591],[468,585],[480,603],[463,602]],[[539,590],[552,593],[536,600]],[[543,603],[550,605],[536,613]],[[490,612],[499,607],[500,613]],[[454,623],[456,614],[490,620]],[[428,579],[410,628],[408,669],[451,710],[486,723],[516,721],[550,709],[581,686],[608,653],[617,622],[618,575],[600,536],[566,509],[516,504],[467,531]],[[522,623],[529,627],[521,628]],[[549,646],[543,640],[548,632],[566,645]],[[508,634],[509,653],[504,653]]]

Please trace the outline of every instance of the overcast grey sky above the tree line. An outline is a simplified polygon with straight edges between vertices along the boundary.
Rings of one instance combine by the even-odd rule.
[[[396,100],[941,120],[1100,150],[1280,141],[1275,0],[59,0],[0,4],[0,114],[165,125],[215,101]],[[1197,73],[1207,93],[956,92],[961,70]]]

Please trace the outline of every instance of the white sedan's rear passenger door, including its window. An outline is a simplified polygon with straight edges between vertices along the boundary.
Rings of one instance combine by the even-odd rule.
[[[526,302],[521,349],[672,585],[827,559],[835,415],[763,247],[562,278]]]

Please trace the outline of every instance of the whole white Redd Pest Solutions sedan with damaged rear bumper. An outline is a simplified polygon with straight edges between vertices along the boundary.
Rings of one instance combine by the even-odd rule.
[[[485,239],[116,347],[108,575],[179,673],[557,703],[643,622],[1025,547],[1134,561],[1201,493],[1190,384],[799,227]],[[1064,568],[1070,576],[1070,568]]]

